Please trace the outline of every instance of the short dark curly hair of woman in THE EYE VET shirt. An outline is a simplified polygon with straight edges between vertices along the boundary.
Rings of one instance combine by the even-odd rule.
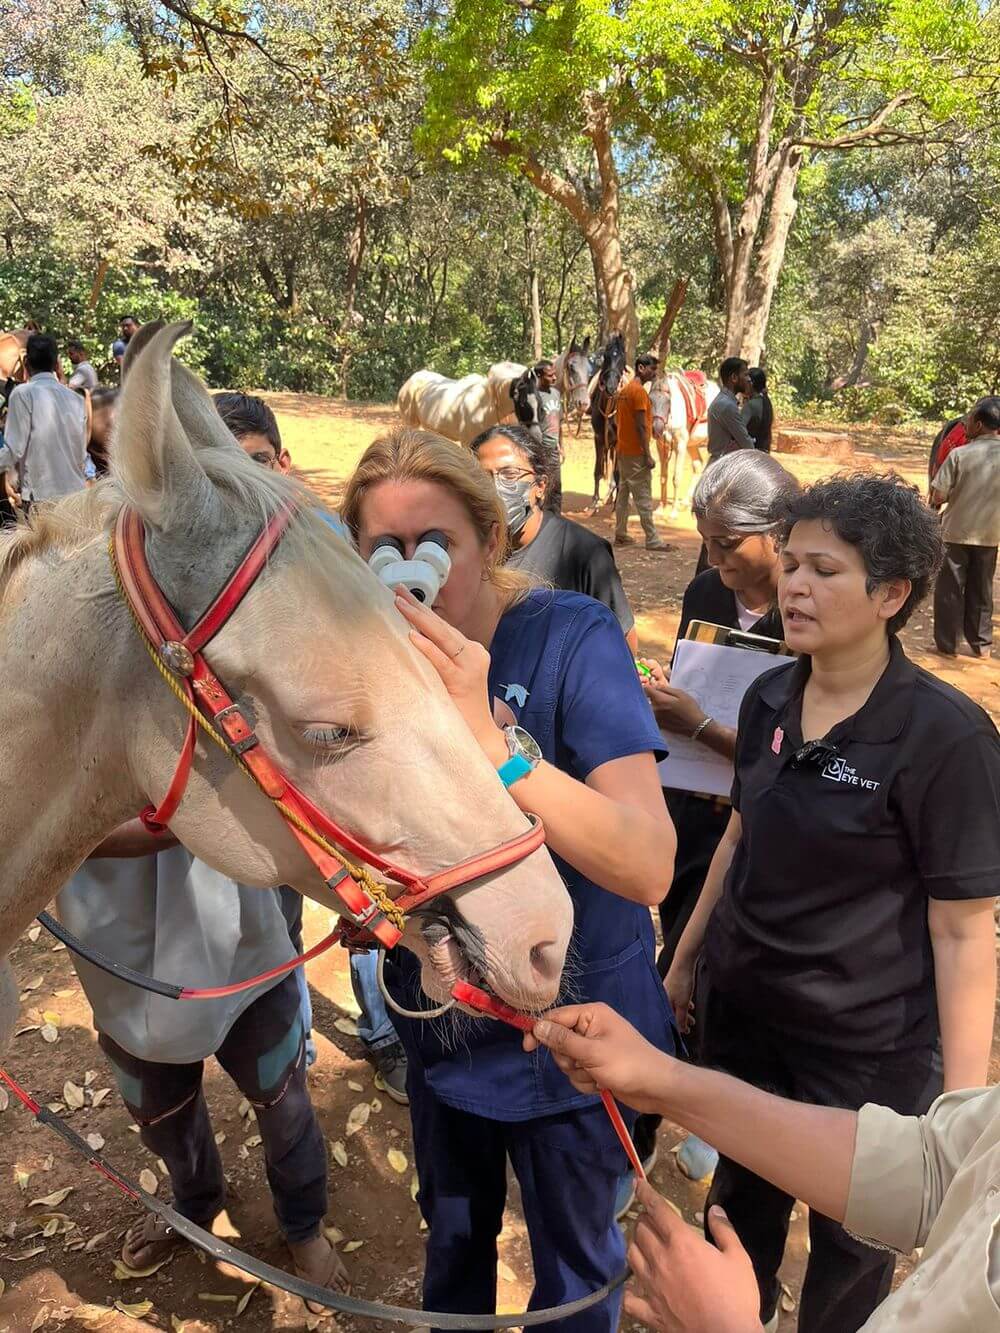
[[[796,523],[819,519],[855,547],[868,575],[868,593],[891,579],[908,579],[909,597],[889,620],[895,635],[924,600],[944,556],[941,529],[916,487],[893,472],[855,472],[783,497],[776,513],[780,540]]]

